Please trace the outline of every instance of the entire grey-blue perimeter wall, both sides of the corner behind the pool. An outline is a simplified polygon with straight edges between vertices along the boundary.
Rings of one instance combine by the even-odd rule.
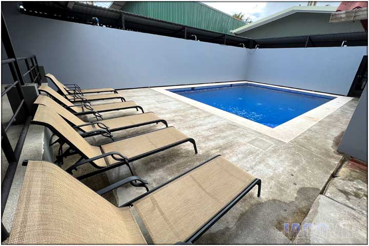
[[[367,47],[249,50],[29,16],[14,2],[2,10],[18,56],[36,54],[46,72],[83,88],[251,80],[347,95],[367,54]]]

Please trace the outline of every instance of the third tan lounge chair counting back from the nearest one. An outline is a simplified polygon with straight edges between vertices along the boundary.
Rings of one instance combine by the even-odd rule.
[[[163,123],[168,127],[165,119],[161,119],[153,112],[122,116],[112,119],[105,119],[94,122],[86,122],[69,112],[67,109],[60,106],[56,101],[48,96],[39,95],[34,104],[44,105],[58,113],[61,117],[69,122],[73,128],[80,130],[84,137],[94,136],[101,133],[108,133],[130,129],[134,127],[146,126],[150,124]]]

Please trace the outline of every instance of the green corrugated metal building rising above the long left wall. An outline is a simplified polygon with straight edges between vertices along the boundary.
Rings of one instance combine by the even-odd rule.
[[[245,24],[199,2],[126,2],[121,10],[224,34]]]

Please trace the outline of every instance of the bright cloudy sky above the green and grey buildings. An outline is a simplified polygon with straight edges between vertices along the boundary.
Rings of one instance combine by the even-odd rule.
[[[215,9],[232,15],[233,13],[242,12],[245,17],[255,20],[275,14],[292,6],[306,6],[308,2],[202,2]],[[317,2],[317,6],[337,6],[341,2]]]

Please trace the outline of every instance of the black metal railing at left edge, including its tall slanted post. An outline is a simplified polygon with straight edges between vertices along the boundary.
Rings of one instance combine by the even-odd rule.
[[[12,40],[9,35],[9,30],[6,25],[6,21],[4,19],[3,11],[1,14],[1,27],[2,27],[2,44],[5,50],[5,53],[7,55],[7,59],[2,59],[2,72],[4,76],[2,76],[2,80],[8,79],[6,78],[7,72],[9,72],[7,69],[5,69],[6,65],[9,66],[9,70],[11,73],[10,81],[2,81],[2,84],[9,84],[7,87],[5,87],[5,90],[2,91],[2,99],[3,96],[7,95],[10,106],[13,111],[13,115],[10,117],[10,119],[7,122],[3,122],[2,118],[2,142],[1,147],[3,150],[3,153],[5,155],[5,158],[8,161],[8,168],[5,171],[5,175],[3,177],[2,181],[2,188],[1,188],[1,206],[2,206],[2,235],[1,239],[2,241],[6,240],[9,237],[9,233],[4,227],[3,224],[3,215],[5,206],[7,204],[10,189],[13,183],[15,171],[18,166],[20,154],[22,153],[23,145],[26,140],[28,128],[30,126],[30,121],[32,118],[32,112],[28,108],[28,104],[26,102],[25,95],[23,93],[23,88],[25,83],[25,78],[30,79],[30,83],[42,83],[42,74],[40,73],[37,58],[35,55],[25,56],[25,57],[17,57],[14,51],[14,47],[12,44]],[[20,61],[24,61],[25,65],[27,67],[27,72],[23,73],[20,68]],[[3,75],[2,74],[2,75]],[[9,83],[7,83],[9,82]],[[30,98],[27,98],[30,99]],[[29,102],[28,102],[29,103]],[[3,108],[4,109],[4,106]],[[8,130],[13,124],[17,125],[23,125],[23,129],[20,132],[20,135],[18,137],[18,140],[15,144],[14,149],[12,148],[11,142],[8,137]],[[4,127],[4,125],[6,126]],[[2,163],[3,165],[3,163]]]

